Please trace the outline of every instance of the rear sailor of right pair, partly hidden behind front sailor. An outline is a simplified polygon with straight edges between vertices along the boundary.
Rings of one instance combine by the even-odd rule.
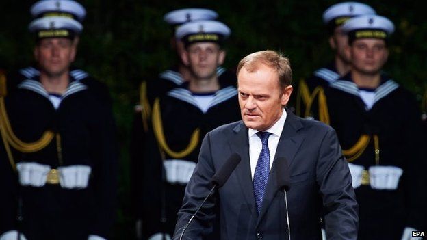
[[[344,49],[348,45],[346,34],[342,32],[341,26],[354,16],[363,14],[375,14],[375,10],[369,5],[354,1],[342,2],[332,5],[323,13],[323,23],[328,29],[328,42],[331,49],[334,51],[333,62],[326,66],[315,70],[311,77],[305,81],[300,81],[298,87],[298,101],[302,101],[296,106],[296,111],[299,116],[306,118],[318,118],[318,112],[322,112],[324,103],[320,101],[320,105],[316,102],[315,88],[319,86],[323,88],[329,83],[335,81],[340,76],[345,75],[350,70],[350,60],[346,57]],[[321,91],[320,91],[321,92]],[[313,93],[313,95],[311,95]],[[311,109],[313,107],[313,109]],[[319,109],[317,109],[319,107]],[[324,122],[326,120],[320,119]],[[328,122],[326,122],[328,123]]]

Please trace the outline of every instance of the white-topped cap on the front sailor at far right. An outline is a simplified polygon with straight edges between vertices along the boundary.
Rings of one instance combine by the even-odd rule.
[[[394,25],[384,16],[363,15],[351,18],[342,26],[344,33],[348,35],[348,42],[357,38],[380,38],[387,40],[393,34]]]

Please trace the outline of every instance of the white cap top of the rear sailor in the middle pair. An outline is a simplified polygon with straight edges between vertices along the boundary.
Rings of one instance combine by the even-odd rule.
[[[183,8],[168,12],[163,17],[164,21],[170,25],[180,25],[196,20],[213,20],[218,18],[218,14],[205,8]]]

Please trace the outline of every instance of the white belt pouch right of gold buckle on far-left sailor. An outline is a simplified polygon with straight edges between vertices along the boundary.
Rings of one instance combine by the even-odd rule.
[[[92,168],[88,165],[70,165],[58,168],[60,185],[66,189],[83,189],[88,187]]]

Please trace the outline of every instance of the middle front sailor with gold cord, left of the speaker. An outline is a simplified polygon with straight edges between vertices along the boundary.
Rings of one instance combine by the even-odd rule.
[[[240,119],[235,75],[231,81],[218,77],[217,72],[226,56],[222,46],[230,34],[229,27],[218,21],[192,21],[177,28],[175,36],[184,43],[181,57],[190,69],[190,79],[157,98],[151,110],[153,129],[144,140],[140,160],[144,237],[148,239],[173,235],[203,136]]]

